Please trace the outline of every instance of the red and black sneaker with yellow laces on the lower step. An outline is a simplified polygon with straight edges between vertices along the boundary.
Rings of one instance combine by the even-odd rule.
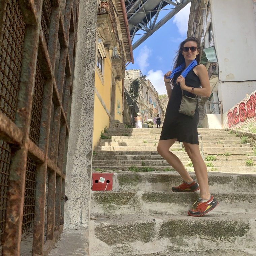
[[[188,211],[188,215],[194,217],[203,216],[206,213],[209,213],[219,204],[219,202],[212,195],[210,200],[204,200],[199,198],[198,201],[195,203],[197,203],[196,209],[193,208]],[[194,205],[192,207],[194,207]]]

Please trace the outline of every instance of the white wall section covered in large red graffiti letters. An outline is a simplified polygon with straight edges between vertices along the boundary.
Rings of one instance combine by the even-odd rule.
[[[223,114],[223,127],[241,127],[247,122],[256,122],[256,91]],[[256,125],[256,124],[255,124]]]

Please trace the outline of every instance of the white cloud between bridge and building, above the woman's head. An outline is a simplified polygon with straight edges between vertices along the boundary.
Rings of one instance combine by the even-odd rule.
[[[186,36],[188,32],[189,12],[190,3],[181,9],[173,18],[173,23],[178,27],[182,36]]]

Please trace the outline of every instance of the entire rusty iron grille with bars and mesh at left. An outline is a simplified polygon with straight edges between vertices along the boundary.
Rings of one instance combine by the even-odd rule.
[[[78,4],[0,0],[3,255],[20,255],[21,228],[33,233],[34,255],[46,255],[63,229]]]

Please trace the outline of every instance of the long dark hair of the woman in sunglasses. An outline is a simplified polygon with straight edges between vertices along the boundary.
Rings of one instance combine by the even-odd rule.
[[[173,69],[177,68],[178,66],[180,66],[182,63],[185,62],[185,58],[182,55],[182,48],[183,48],[184,44],[186,42],[189,42],[189,41],[194,41],[194,42],[197,43],[197,49],[199,50],[199,54],[196,56],[196,61],[197,61],[198,64],[200,63],[201,56],[202,56],[202,50],[201,50],[201,46],[200,46],[200,41],[199,41],[199,39],[197,37],[187,37],[184,41],[182,41],[180,43],[177,55],[176,55],[176,57],[173,60],[174,61]],[[171,88],[173,88],[173,86],[175,85],[178,76],[179,76],[179,74],[175,74],[172,77],[172,79],[171,79]]]

